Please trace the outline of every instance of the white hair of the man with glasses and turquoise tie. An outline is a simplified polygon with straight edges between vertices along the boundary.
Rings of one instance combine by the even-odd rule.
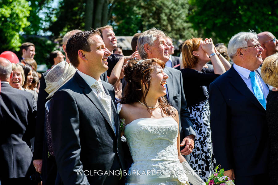
[[[238,48],[247,47],[247,42],[251,40],[258,40],[258,36],[255,32],[239,32],[234,35],[228,44],[228,55],[233,60],[234,55],[237,53]]]

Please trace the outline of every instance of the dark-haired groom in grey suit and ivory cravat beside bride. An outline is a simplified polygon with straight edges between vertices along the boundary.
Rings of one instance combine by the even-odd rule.
[[[121,184],[124,160],[115,92],[100,80],[111,53],[96,30],[75,33],[66,52],[78,70],[51,100],[57,171],[67,185]]]

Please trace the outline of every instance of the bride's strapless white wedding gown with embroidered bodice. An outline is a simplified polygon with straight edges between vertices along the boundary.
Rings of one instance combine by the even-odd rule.
[[[139,118],[126,125],[124,135],[134,161],[126,185],[189,185],[178,159],[178,132],[172,117]]]

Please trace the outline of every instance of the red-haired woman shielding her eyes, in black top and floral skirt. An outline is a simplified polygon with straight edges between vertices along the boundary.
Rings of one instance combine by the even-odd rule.
[[[205,181],[216,167],[211,141],[208,86],[231,67],[227,60],[221,57],[222,61],[219,58],[220,55],[211,38],[189,39],[182,46],[183,90],[197,137],[189,163],[193,166],[193,170],[201,171],[202,179]],[[208,61],[212,62],[213,69],[204,68]]]

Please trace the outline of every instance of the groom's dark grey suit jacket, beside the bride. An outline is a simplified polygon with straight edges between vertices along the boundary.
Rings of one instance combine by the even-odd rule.
[[[112,98],[116,135],[108,115],[91,87],[75,73],[53,96],[49,111],[57,170],[64,184],[116,184],[120,176],[78,175],[77,170],[120,170],[123,152],[114,88],[103,82]],[[87,172],[86,172],[87,173]],[[116,173],[116,172],[115,172]]]

